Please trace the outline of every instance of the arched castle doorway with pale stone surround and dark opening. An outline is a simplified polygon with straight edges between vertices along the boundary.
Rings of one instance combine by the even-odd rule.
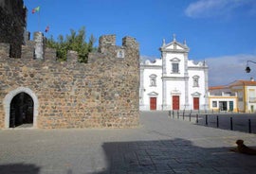
[[[4,98],[5,128],[15,128],[28,124],[37,128],[39,102],[37,96],[26,87],[9,92]]]

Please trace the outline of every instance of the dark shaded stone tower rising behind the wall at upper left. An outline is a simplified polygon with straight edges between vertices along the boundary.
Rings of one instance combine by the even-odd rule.
[[[0,43],[10,43],[9,55],[21,57],[21,45],[27,26],[23,0],[0,0]]]

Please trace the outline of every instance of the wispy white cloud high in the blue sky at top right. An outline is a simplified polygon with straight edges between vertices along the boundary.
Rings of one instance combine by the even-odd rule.
[[[197,0],[185,9],[185,14],[192,18],[229,16],[240,7],[247,6],[248,11],[254,11],[255,4],[255,0]]]

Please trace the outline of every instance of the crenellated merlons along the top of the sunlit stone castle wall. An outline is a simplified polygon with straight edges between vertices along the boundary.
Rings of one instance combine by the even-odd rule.
[[[27,32],[27,39],[29,39],[29,32]],[[46,47],[46,38],[42,32],[35,32],[33,34],[33,40],[25,40],[26,44],[21,45],[21,59],[30,60],[47,60],[56,61],[57,52],[54,48]],[[11,44],[0,44],[0,58],[5,55],[10,56]],[[138,43],[135,38],[126,36],[122,38],[122,45],[116,45],[116,35],[103,35],[99,40],[98,52],[90,53],[88,62],[94,62],[98,59],[124,59],[128,49],[138,50]],[[73,56],[71,56],[74,54]],[[67,61],[72,57],[72,61],[78,61],[77,53],[70,50],[68,51]],[[79,63],[79,62],[77,62]]]

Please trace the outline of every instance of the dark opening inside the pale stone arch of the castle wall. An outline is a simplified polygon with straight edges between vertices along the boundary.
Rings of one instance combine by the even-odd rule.
[[[34,102],[27,93],[19,93],[14,96],[9,107],[9,128],[21,125],[33,126]]]

